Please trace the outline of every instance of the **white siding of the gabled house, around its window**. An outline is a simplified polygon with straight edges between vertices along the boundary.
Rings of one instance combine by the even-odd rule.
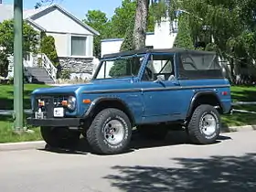
[[[59,9],[53,9],[42,16],[33,17],[33,21],[47,30],[47,35],[55,38],[59,57],[93,57],[93,34]],[[71,37],[86,37],[84,52],[72,55]]]

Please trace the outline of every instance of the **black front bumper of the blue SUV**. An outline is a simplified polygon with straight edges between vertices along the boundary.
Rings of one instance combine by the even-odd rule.
[[[83,121],[80,118],[48,118],[48,119],[35,119],[32,117],[27,118],[27,123],[33,126],[52,126],[52,127],[80,127]]]

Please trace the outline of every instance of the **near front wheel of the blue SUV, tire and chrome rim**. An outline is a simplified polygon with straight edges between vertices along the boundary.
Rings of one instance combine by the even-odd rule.
[[[87,131],[87,140],[97,154],[123,153],[130,144],[132,125],[128,116],[114,108],[99,112]]]

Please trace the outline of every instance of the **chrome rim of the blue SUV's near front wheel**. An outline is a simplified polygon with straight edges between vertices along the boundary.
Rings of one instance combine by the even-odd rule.
[[[119,144],[123,141],[124,126],[118,120],[111,120],[104,126],[104,138],[109,144]]]

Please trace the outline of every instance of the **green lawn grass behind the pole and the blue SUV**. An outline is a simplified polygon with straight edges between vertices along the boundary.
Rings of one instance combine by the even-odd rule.
[[[30,109],[30,93],[37,88],[48,87],[47,85],[26,84],[24,88],[24,107]],[[13,86],[0,85],[0,109],[13,110]],[[256,101],[256,87],[232,87],[233,101]],[[235,109],[248,110],[256,112],[256,105],[250,106],[236,106]],[[228,126],[240,126],[247,124],[256,124],[255,114],[234,112],[229,115],[222,115],[222,123]],[[0,115],[0,143],[7,142],[24,142],[24,141],[38,141],[41,140],[41,135],[38,128],[33,128],[34,134],[24,133],[16,135],[12,132],[13,120],[9,116]]]

